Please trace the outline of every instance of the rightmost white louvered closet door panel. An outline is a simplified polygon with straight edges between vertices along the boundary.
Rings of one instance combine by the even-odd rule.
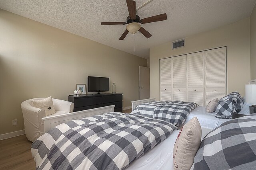
[[[226,47],[206,51],[206,105],[226,95]]]

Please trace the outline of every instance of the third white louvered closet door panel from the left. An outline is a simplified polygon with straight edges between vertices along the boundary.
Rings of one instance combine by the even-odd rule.
[[[205,51],[187,55],[188,102],[205,106],[204,102],[204,59]]]

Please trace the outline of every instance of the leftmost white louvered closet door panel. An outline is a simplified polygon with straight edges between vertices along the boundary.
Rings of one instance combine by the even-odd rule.
[[[160,101],[172,101],[172,58],[160,60]]]

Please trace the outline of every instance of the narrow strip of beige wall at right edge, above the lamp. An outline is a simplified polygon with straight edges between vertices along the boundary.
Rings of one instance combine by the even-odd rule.
[[[251,80],[256,79],[256,4],[250,16]]]

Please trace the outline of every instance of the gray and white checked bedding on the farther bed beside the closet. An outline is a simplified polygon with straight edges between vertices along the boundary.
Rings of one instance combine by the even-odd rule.
[[[156,119],[162,119],[173,123],[177,127],[180,127],[185,123],[190,111],[196,108],[198,104],[194,102],[147,102],[137,106],[132,113],[139,115],[146,115]]]

